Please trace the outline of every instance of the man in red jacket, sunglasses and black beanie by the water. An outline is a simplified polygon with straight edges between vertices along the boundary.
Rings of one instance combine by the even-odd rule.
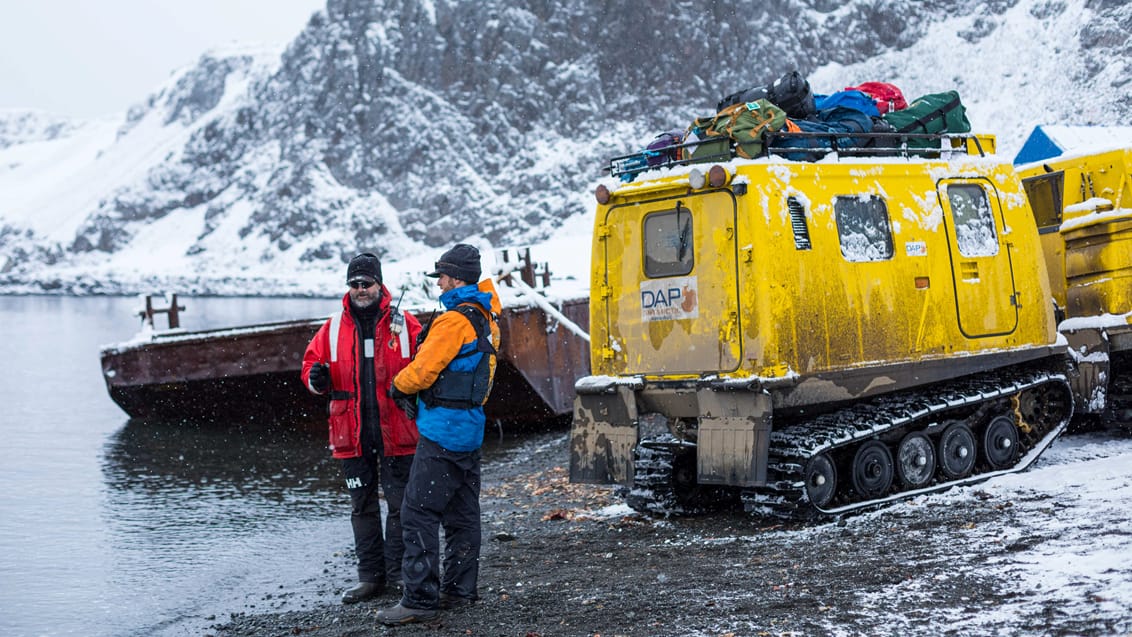
[[[346,284],[342,312],[307,345],[302,381],[331,398],[331,451],[342,459],[358,554],[358,586],[342,595],[343,603],[352,604],[379,595],[387,583],[401,584],[401,502],[419,434],[415,405],[398,407],[388,389],[417,353],[421,325],[400,308],[391,310],[376,255],[354,257]],[[384,539],[379,482],[388,507]]]

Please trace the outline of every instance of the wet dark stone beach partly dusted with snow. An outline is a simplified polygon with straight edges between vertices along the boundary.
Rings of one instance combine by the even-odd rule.
[[[327,603],[351,582],[336,551],[310,585],[321,601],[271,612],[273,597],[217,617],[215,637],[259,635],[1114,635],[1132,630],[1129,599],[1082,571],[1046,587],[1032,563],[1132,535],[1118,510],[1027,481],[1074,463],[1132,455],[1126,438],[1077,438],[1019,476],[821,524],[741,514],[641,516],[610,488],[571,484],[567,432],[526,436],[483,464],[481,600],[437,620],[384,627],[389,593]],[[1063,449],[1060,450],[1058,449]],[[1097,459],[1099,457],[1099,460]],[[1083,458],[1083,459],[1082,459]],[[1116,477],[1127,482],[1127,474]],[[1082,484],[1090,482],[1084,480]],[[1066,489],[1088,489],[1071,484]],[[1107,489],[1100,485],[1100,489]],[[1092,519],[1090,519],[1092,516]],[[1110,518],[1106,522],[1106,516]],[[1065,534],[1071,534],[1071,540]],[[1058,545],[1069,544],[1069,549]],[[1088,550],[1088,549],[1082,549]],[[1039,569],[1040,570],[1040,569]],[[1107,571],[1132,582],[1127,562]],[[1107,575],[1105,577],[1108,577]]]

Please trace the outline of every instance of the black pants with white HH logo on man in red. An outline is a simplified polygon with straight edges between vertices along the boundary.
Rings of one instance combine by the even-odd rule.
[[[401,579],[401,560],[404,552],[401,531],[401,502],[412,456],[377,456],[367,454],[359,458],[344,458],[342,472],[350,491],[350,524],[353,527],[354,552],[358,556],[358,580],[384,584]],[[377,485],[385,491],[388,514],[385,534],[381,533],[381,502]],[[385,537],[389,541],[385,542]]]

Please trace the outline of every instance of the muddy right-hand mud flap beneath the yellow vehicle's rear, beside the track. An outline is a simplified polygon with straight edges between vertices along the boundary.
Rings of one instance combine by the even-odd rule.
[[[766,483],[771,433],[771,397],[751,391],[696,393],[700,484],[760,487]]]

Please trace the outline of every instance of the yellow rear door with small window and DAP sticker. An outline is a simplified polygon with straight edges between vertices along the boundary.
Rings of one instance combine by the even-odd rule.
[[[734,195],[714,190],[614,206],[606,229],[615,369],[702,375],[738,368]]]

